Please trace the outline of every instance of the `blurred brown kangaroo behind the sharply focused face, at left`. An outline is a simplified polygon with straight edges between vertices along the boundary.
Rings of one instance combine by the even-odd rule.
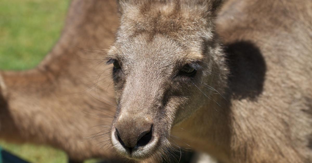
[[[0,137],[54,146],[72,161],[117,159],[102,135],[115,113],[111,66],[101,50],[81,48],[107,49],[118,24],[114,0],[72,1],[60,40],[35,69],[0,72]]]

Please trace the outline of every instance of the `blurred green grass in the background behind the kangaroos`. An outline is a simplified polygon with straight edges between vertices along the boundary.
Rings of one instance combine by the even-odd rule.
[[[35,67],[58,40],[69,3],[70,0],[1,0],[0,69]],[[3,140],[0,146],[30,162],[67,162],[63,151],[48,146],[18,145]]]

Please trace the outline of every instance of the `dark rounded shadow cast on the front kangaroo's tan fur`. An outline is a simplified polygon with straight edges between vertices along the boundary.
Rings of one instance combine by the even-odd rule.
[[[260,49],[251,41],[237,41],[225,46],[232,98],[256,100],[263,91],[266,76],[266,62]]]

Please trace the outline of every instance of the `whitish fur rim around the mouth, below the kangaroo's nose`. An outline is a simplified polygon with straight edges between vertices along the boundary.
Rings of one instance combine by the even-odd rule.
[[[112,132],[111,134],[111,140],[112,140],[112,145],[116,149],[119,154],[124,155],[130,159],[140,159],[140,158],[146,158],[149,156],[148,154],[154,151],[155,146],[158,142],[158,137],[152,137],[151,142],[146,144],[145,146],[140,146],[136,151],[133,151],[132,153],[129,153],[124,147],[119,143],[119,141],[115,137],[115,131]]]

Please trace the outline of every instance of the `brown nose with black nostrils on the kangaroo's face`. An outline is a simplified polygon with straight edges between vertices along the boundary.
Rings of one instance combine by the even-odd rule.
[[[140,146],[145,146],[152,139],[153,125],[148,122],[134,122],[131,124],[117,122],[115,129],[119,143],[129,153]]]

